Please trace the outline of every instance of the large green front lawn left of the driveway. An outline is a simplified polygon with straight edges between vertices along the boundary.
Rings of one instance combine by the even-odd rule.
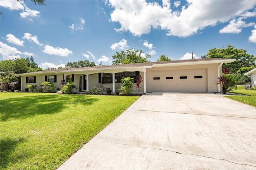
[[[1,93],[1,168],[58,168],[138,98]]]

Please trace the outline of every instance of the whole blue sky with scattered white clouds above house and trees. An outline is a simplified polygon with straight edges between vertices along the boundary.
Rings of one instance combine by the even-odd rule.
[[[33,54],[42,68],[88,60],[112,64],[129,48],[174,60],[231,44],[256,55],[255,1],[1,0],[1,59]],[[73,24],[73,25],[72,25]],[[116,44],[115,44],[116,43]],[[113,45],[114,44],[114,45]]]

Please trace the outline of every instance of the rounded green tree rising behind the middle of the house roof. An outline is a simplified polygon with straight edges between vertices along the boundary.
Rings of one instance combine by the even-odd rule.
[[[113,56],[113,65],[117,64],[132,64],[149,62],[150,55],[145,55],[142,50],[134,50],[134,48],[126,51],[116,52]]]

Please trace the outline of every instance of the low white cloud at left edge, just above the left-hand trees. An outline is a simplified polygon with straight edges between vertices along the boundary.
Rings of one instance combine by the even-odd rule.
[[[17,54],[22,53],[18,51],[17,48],[8,46],[7,44],[0,42],[0,54],[2,54],[3,60],[13,60],[15,58],[20,58],[20,55]]]

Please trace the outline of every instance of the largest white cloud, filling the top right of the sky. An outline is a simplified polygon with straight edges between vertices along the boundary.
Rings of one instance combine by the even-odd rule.
[[[114,8],[110,14],[112,22],[119,22],[121,28],[134,36],[150,33],[151,29],[161,28],[166,35],[186,37],[196,34],[207,26],[214,26],[240,16],[254,8],[256,1],[196,1],[187,0],[180,12],[172,12],[157,2],[146,0],[109,0]]]

